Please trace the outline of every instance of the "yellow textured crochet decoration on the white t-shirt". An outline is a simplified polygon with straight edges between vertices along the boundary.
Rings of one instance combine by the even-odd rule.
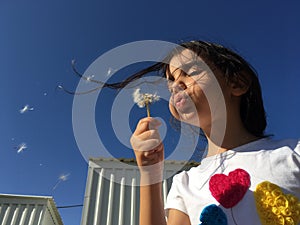
[[[277,185],[264,181],[254,192],[256,209],[262,225],[298,225],[300,201],[291,194],[284,194]]]

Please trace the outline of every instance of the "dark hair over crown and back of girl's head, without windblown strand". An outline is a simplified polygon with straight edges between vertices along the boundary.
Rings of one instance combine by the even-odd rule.
[[[250,133],[264,137],[266,113],[255,69],[240,55],[219,44],[190,41],[182,43],[181,46],[195,52],[211,70],[218,70],[227,83],[248,87],[248,91],[241,97],[240,116]]]

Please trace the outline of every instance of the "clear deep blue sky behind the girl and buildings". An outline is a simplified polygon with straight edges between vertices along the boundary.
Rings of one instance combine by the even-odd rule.
[[[72,72],[72,59],[84,72],[103,53],[133,41],[199,38],[236,49],[258,71],[268,133],[297,138],[299,7],[296,0],[2,0],[0,192],[53,195],[58,206],[83,203],[88,165],[73,134],[73,96],[55,87],[63,84],[75,90],[79,79]],[[114,94],[106,96],[97,105],[99,123],[110,116]],[[34,110],[21,114],[26,104]],[[134,118],[145,115],[143,110],[133,110]],[[153,106],[153,113],[168,117],[164,107]],[[105,135],[113,155],[132,157],[112,133]],[[18,154],[14,147],[22,142],[28,148]],[[69,179],[52,190],[62,174],[69,174]],[[80,207],[60,209],[60,213],[66,225],[80,224]]]

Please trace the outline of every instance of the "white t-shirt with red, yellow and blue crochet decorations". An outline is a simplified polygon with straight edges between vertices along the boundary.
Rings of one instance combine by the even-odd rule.
[[[192,225],[300,224],[299,200],[300,140],[264,138],[175,175],[165,209],[184,212]]]

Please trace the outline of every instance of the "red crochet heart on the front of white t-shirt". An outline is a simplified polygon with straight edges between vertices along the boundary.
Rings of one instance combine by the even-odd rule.
[[[245,195],[250,187],[250,175],[243,169],[236,169],[226,176],[215,174],[209,180],[209,190],[224,207],[232,208]]]

